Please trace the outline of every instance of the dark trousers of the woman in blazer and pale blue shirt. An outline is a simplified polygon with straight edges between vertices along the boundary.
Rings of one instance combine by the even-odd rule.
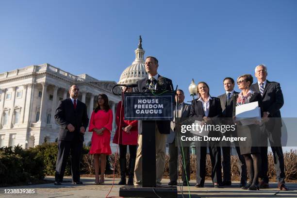
[[[204,185],[205,173],[206,173],[206,153],[207,147],[204,146],[204,142],[196,141],[196,182]],[[213,183],[222,182],[221,172],[221,148],[217,146],[217,142],[209,142],[209,154],[212,162],[212,180]]]

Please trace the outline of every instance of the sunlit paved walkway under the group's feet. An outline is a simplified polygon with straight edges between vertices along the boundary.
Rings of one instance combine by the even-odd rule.
[[[53,177],[46,178],[53,180]],[[65,181],[71,181],[65,178]],[[115,179],[118,183],[119,179]],[[168,179],[163,179],[164,185]],[[16,186],[0,188],[0,197],[2,198],[105,198],[113,183],[112,178],[105,179],[105,185],[95,185],[93,178],[82,178],[83,185],[75,185],[71,182],[64,182],[61,186],[55,186],[53,183]],[[269,189],[260,191],[247,191],[238,187],[238,182],[233,182],[231,187],[215,189],[211,181],[206,181],[205,188],[194,187],[195,181],[190,182],[191,198],[297,198],[297,183],[287,183],[290,191],[278,191],[277,184],[271,183]],[[114,185],[109,197],[118,197],[119,185]],[[4,189],[35,189],[35,194],[4,194]],[[178,198],[182,198],[181,189],[178,186]],[[185,198],[188,196],[188,187],[183,187]]]

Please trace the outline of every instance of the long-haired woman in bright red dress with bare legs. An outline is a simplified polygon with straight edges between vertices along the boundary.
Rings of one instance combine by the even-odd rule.
[[[105,94],[99,94],[97,107],[91,115],[89,132],[93,132],[90,154],[94,154],[95,183],[104,183],[106,155],[110,155],[110,133],[112,131],[113,112],[108,105]],[[100,164],[99,164],[100,161]],[[99,178],[100,165],[100,178]]]

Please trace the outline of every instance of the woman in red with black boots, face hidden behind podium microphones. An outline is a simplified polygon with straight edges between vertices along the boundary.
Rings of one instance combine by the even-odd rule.
[[[132,92],[132,88],[125,87],[124,92]],[[134,166],[136,159],[136,147],[137,147],[137,120],[124,120],[124,105],[120,101],[116,107],[115,123],[117,129],[115,132],[113,143],[119,145],[120,149],[120,168],[121,168],[121,180],[119,185],[126,184],[126,154],[127,145],[129,145],[129,179],[128,185],[133,185]]]

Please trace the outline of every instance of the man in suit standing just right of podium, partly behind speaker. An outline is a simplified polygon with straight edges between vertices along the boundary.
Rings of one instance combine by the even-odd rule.
[[[184,158],[184,161],[182,160],[182,164],[185,163],[185,165],[181,167],[182,169],[182,185],[187,186],[188,181],[190,181],[190,145],[187,145],[186,142],[182,142],[181,140],[178,140],[177,138],[180,137],[180,128],[178,128],[177,124],[178,121],[181,121],[181,119],[186,119],[189,117],[190,114],[190,108],[191,105],[184,103],[184,93],[181,89],[178,89],[176,91],[176,97],[175,101],[179,103],[179,105],[176,105],[174,110],[174,117],[175,119],[171,121],[170,123],[170,134],[167,135],[167,143],[169,144],[169,178],[170,182],[168,185],[177,185],[177,179],[178,179],[178,149],[180,147],[181,156],[182,159]],[[178,120],[179,119],[179,120]],[[177,131],[179,129],[179,131]],[[178,134],[180,133],[180,134]],[[189,136],[190,134],[183,134],[185,136]],[[177,141],[180,141],[178,144]],[[181,145],[182,144],[182,145]],[[182,146],[182,147],[181,147]]]

